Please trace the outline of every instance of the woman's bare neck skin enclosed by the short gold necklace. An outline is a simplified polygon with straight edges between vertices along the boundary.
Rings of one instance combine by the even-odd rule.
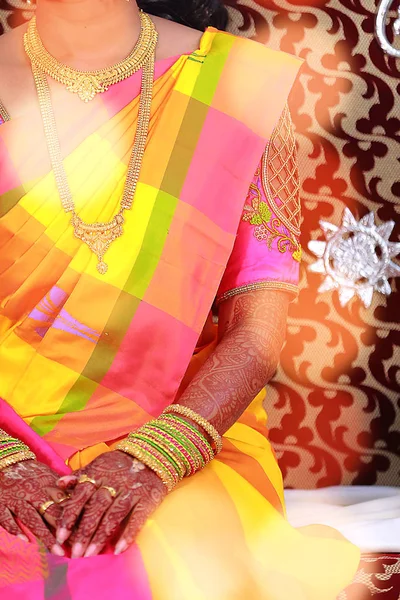
[[[37,0],[35,12],[46,50],[84,71],[125,58],[140,33],[135,0]]]

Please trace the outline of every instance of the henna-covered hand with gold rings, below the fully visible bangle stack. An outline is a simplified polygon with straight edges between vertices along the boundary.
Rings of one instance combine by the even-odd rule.
[[[82,474],[95,480],[96,485],[78,483]],[[167,494],[158,475],[119,450],[105,452],[73,476],[59,480],[62,489],[71,490],[71,485],[74,489],[63,502],[58,520],[57,540],[61,544],[69,540],[72,558],[99,554],[128,519],[115,554],[126,550]],[[113,488],[116,496],[103,486]]]

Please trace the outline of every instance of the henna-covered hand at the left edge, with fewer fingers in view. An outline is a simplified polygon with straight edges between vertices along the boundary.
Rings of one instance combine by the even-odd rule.
[[[66,498],[57,487],[58,478],[57,473],[36,460],[26,460],[0,471],[0,526],[28,541],[17,523],[19,520],[53,554],[63,556],[63,549],[48,527],[55,527],[61,515],[58,503]],[[49,500],[55,504],[49,506],[42,517],[40,507]]]

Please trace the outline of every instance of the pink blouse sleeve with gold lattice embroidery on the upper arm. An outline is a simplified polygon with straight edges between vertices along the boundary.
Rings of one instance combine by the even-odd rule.
[[[299,190],[296,143],[286,106],[250,185],[217,302],[259,288],[297,296]]]

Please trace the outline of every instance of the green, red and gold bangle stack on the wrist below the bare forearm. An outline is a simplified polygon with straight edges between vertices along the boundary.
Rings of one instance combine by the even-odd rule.
[[[117,450],[134,456],[157,473],[171,491],[183,477],[203,469],[222,450],[222,437],[195,411],[171,404],[157,419],[119,442]]]

